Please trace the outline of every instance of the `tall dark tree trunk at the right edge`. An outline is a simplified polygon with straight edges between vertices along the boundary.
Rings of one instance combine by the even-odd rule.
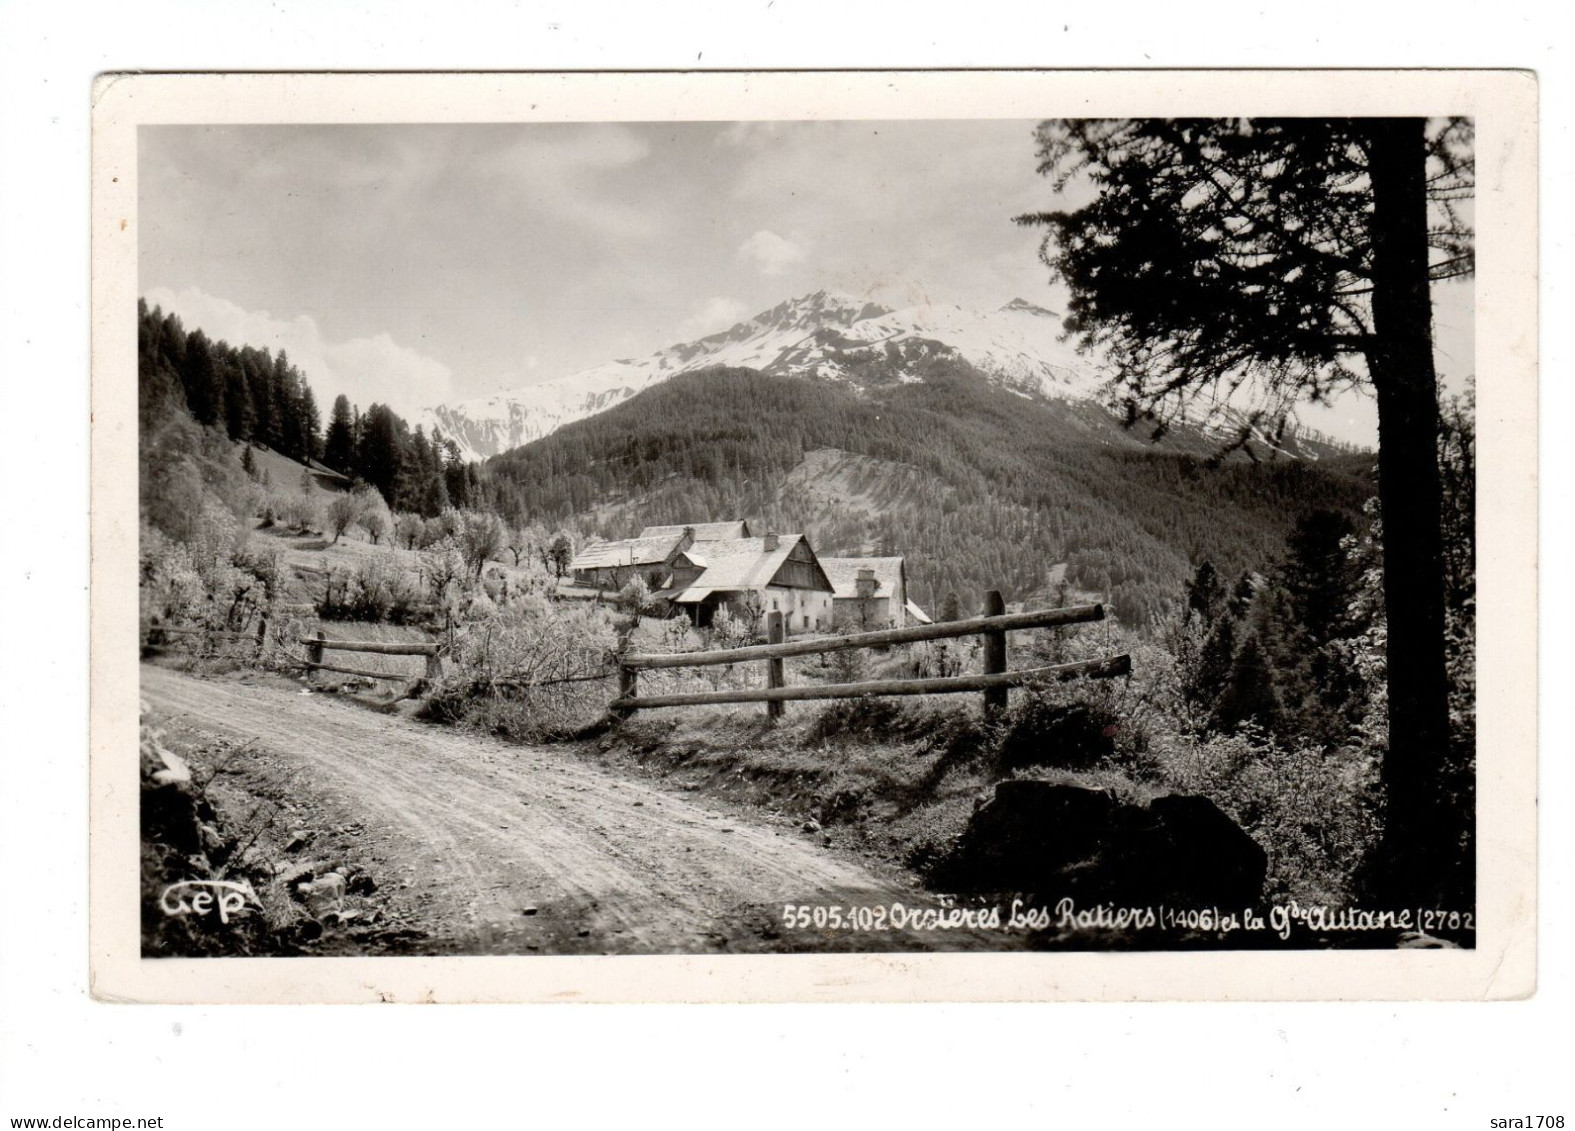
[[[1443,487],[1438,378],[1427,271],[1427,158],[1421,118],[1369,124],[1378,499],[1388,611],[1389,753],[1375,895],[1414,907],[1460,890],[1460,818],[1443,807],[1449,748],[1444,666]]]

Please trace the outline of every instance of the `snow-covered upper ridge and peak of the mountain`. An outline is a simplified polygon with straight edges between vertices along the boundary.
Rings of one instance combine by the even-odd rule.
[[[819,375],[862,383],[874,367],[890,380],[917,380],[914,359],[959,356],[1024,397],[1087,399],[1099,378],[1060,340],[1060,315],[1013,299],[986,313],[958,306],[891,310],[830,291],[780,302],[728,331],[610,361],[553,381],[425,410],[417,421],[441,428],[466,458],[485,458],[605,411],[676,373],[712,365],[773,375]]]

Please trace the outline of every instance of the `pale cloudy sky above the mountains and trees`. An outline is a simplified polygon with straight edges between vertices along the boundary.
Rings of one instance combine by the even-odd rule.
[[[142,295],[402,413],[726,329],[822,287],[1063,309],[1032,121],[143,126]],[[1469,369],[1469,287],[1440,351]],[[1441,358],[1446,372],[1460,369]],[[1367,399],[1306,414],[1370,443]]]

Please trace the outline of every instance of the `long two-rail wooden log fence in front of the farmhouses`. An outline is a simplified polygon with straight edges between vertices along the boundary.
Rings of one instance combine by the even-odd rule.
[[[721,703],[764,703],[765,714],[780,718],[783,703],[800,699],[862,699],[876,695],[951,695],[956,692],[983,692],[984,709],[999,712],[1006,706],[1006,692],[1024,684],[1047,679],[1107,679],[1126,676],[1132,669],[1129,655],[1114,655],[1101,660],[1057,663],[1043,668],[1006,669],[1006,633],[1022,629],[1054,629],[1071,624],[1088,624],[1104,619],[1102,605],[1076,605],[1073,608],[1047,608],[1035,613],[1006,613],[997,591],[984,594],[984,616],[969,621],[923,624],[912,629],[884,629],[860,632],[849,636],[825,636],[788,643],[783,633],[781,613],[767,616],[767,644],[731,647],[720,652],[673,652],[617,655],[617,698],[610,710],[617,715],[643,707],[688,707]],[[791,655],[817,655],[849,647],[884,647],[888,644],[914,644],[926,640],[950,640],[956,636],[984,638],[984,671],[978,676],[943,676],[936,679],[876,679],[860,684],[810,684],[788,687],[783,677],[783,660]],[[641,669],[701,668],[718,663],[765,663],[765,687],[740,692],[695,692],[680,695],[639,695]]]

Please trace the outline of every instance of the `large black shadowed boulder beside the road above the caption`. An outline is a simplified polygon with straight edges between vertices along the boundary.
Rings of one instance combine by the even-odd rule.
[[[1044,899],[1246,907],[1263,893],[1268,857],[1206,797],[1147,805],[1104,789],[1002,781],[934,868],[943,892],[1014,892]]]

